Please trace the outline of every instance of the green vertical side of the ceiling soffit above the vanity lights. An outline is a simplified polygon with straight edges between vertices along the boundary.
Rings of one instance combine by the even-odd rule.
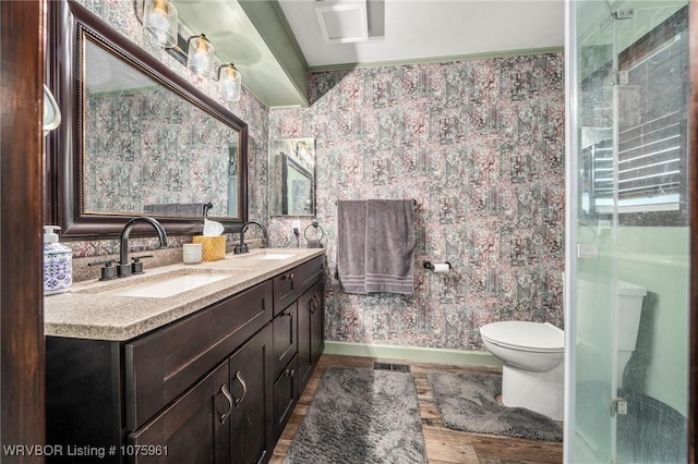
[[[302,106],[308,107],[308,62],[281,12],[281,7],[277,0],[241,0],[239,3],[291,85],[298,90]]]

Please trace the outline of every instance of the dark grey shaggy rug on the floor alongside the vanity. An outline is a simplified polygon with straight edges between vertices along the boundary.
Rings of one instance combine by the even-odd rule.
[[[285,463],[426,463],[425,453],[411,374],[329,366]]]

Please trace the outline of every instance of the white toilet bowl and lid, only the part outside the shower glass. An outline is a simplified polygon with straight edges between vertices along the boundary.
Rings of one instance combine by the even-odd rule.
[[[565,333],[550,322],[507,320],[481,327],[480,335],[504,363],[502,403],[562,420]]]

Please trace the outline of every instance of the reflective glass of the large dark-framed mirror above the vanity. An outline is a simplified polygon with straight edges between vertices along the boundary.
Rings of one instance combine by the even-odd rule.
[[[239,218],[238,132],[84,37],[83,212]]]

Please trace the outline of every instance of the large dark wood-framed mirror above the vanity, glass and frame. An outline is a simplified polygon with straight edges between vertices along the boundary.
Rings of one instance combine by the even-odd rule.
[[[63,114],[47,136],[45,222],[115,236],[135,216],[172,234],[203,216],[248,219],[248,126],[74,1],[49,2],[48,86]]]

